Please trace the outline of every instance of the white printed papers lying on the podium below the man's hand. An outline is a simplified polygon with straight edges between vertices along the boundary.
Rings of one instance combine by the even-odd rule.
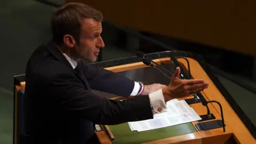
[[[173,99],[166,103],[166,107],[167,111],[155,114],[154,119],[129,122],[131,130],[141,132],[201,120],[201,117],[189,107],[185,100]]]

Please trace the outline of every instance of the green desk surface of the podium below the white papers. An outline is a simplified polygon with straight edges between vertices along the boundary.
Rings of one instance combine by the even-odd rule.
[[[143,143],[197,132],[192,123],[168,126],[143,132],[131,131],[127,123],[108,125],[108,127],[115,137],[115,140],[112,142],[117,144]]]

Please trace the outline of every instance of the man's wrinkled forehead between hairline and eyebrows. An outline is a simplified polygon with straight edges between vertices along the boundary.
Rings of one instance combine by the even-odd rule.
[[[102,31],[101,22],[96,21],[94,19],[84,19],[82,21],[81,28],[82,28],[82,31],[87,31],[89,33],[95,33],[95,32],[101,33]]]

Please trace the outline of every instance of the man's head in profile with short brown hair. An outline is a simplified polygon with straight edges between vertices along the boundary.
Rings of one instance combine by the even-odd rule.
[[[99,48],[104,47],[101,12],[81,3],[68,3],[54,10],[52,36],[55,44],[76,60],[91,62],[97,59]]]

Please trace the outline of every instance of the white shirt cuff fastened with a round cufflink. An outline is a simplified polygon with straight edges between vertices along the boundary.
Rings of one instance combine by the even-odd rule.
[[[152,108],[153,114],[159,114],[167,111],[162,89],[155,91],[153,93],[150,93],[149,100],[151,102],[151,108]]]

